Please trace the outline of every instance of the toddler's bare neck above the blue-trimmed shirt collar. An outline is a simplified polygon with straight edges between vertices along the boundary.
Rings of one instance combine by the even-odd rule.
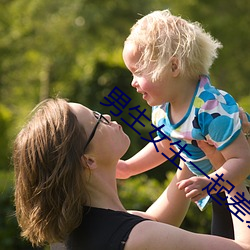
[[[193,99],[198,80],[183,81],[181,90],[170,102],[169,118],[172,124],[180,122],[187,113]]]

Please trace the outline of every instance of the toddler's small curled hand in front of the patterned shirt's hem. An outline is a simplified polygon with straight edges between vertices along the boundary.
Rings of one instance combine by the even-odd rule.
[[[177,187],[184,190],[186,197],[192,201],[198,201],[207,196],[207,190],[202,189],[210,183],[207,177],[194,176],[186,180],[179,181]]]

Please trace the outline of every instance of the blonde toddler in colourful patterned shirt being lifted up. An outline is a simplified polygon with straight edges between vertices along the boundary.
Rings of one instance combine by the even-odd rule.
[[[123,59],[133,75],[131,85],[152,107],[152,123],[162,126],[155,142],[164,154],[149,143],[132,158],[120,161],[117,178],[145,172],[179,151],[194,175],[180,187],[203,209],[210,198],[204,188],[211,178],[225,180],[223,188],[217,188],[223,192],[248,177],[250,150],[241,132],[237,103],[212,86],[209,77],[221,47],[199,23],[174,16],[169,10],[154,11],[135,23],[125,41]],[[198,147],[200,140],[221,151],[225,163],[216,171]],[[224,206],[221,212],[213,212],[220,213],[217,217],[222,222],[214,222],[212,232],[233,238],[230,212]]]

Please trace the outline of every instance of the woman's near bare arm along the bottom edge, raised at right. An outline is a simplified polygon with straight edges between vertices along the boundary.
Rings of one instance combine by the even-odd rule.
[[[245,193],[245,198],[250,200],[250,194],[244,186],[235,187],[228,194],[234,197],[236,192]],[[244,205],[243,205],[244,206]],[[249,210],[249,208],[245,207]],[[230,249],[249,250],[250,237],[249,228],[246,221],[250,221],[250,214],[244,216],[241,222],[236,216],[233,217],[235,240],[230,240],[218,236],[191,233],[164,223],[154,221],[144,221],[137,224],[130,233],[125,250],[210,250],[210,249]]]

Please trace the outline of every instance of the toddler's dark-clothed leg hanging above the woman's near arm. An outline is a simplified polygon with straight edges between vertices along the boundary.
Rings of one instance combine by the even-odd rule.
[[[224,192],[220,193],[220,196],[223,198],[226,197]],[[212,207],[213,207],[213,215],[212,215],[211,234],[222,236],[229,239],[234,239],[234,230],[233,230],[231,212],[227,209],[227,205],[225,204],[219,205],[214,199],[212,199]]]

